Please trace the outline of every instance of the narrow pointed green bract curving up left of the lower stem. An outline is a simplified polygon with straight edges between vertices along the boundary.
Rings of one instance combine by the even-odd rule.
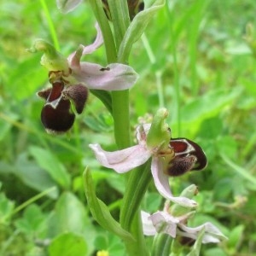
[[[132,236],[126,230],[123,230],[120,224],[111,216],[108,207],[96,197],[93,187],[93,180],[88,168],[84,171],[84,192],[87,198],[90,212],[96,222],[105,230],[112,232],[125,241],[131,241]]]

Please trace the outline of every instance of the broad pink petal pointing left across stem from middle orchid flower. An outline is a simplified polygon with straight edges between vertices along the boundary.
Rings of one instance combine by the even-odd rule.
[[[143,165],[151,156],[150,152],[140,145],[113,152],[103,150],[99,144],[90,144],[89,147],[94,151],[96,159],[102,166],[119,173],[129,172]]]

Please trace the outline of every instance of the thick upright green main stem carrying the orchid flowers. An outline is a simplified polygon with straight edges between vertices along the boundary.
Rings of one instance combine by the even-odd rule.
[[[90,0],[90,5],[96,15],[96,20],[102,29],[102,35],[104,38],[108,63],[121,62],[123,60],[117,60],[117,52],[119,50],[119,44],[125,36],[127,27],[129,26],[129,12],[126,0],[113,1],[109,0],[109,9],[113,19],[113,29],[115,44],[113,41],[113,34],[108,24],[106,15],[102,9],[101,0]],[[112,91],[112,114],[114,122],[114,137],[118,148],[128,148],[131,146],[131,129],[130,129],[130,109],[129,109],[129,90]],[[150,172],[149,172],[150,173]],[[125,198],[123,201],[123,207],[121,207],[120,220],[121,226],[131,232],[134,241],[125,241],[126,254],[130,256],[135,255],[148,255],[145,240],[143,237],[143,228],[141,224],[139,205],[135,204],[135,207],[131,207],[133,212],[129,212],[129,223],[125,223],[127,214],[125,209],[134,201],[142,201],[143,195],[147,186],[145,183],[137,184],[137,180],[140,177],[140,173],[135,170],[128,176],[126,183]],[[137,178],[135,178],[137,177]],[[136,184],[136,186],[135,186]],[[131,194],[134,192],[134,187],[143,189],[143,193],[136,193],[133,199]],[[131,201],[133,200],[133,201]],[[130,209],[128,207],[128,209]]]

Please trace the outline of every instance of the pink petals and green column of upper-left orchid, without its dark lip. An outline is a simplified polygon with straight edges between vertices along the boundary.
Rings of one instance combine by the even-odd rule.
[[[102,67],[96,63],[81,61],[84,55],[93,53],[103,44],[102,32],[96,23],[96,40],[94,43],[84,46],[65,58],[55,50],[52,44],[43,39],[37,39],[31,52],[44,51],[41,64],[49,70],[50,82],[62,79],[66,84],[81,83],[88,89],[95,90],[126,90],[137,81],[137,73],[128,65],[111,63]]]

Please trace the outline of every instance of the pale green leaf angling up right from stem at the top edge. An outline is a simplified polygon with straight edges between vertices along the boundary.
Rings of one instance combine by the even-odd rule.
[[[165,0],[156,0],[151,7],[138,13],[131,21],[131,25],[128,27],[125,37],[119,47],[118,60],[120,62],[128,60],[132,44],[142,36],[148,26],[148,22],[159,9],[164,7],[165,3]]]

